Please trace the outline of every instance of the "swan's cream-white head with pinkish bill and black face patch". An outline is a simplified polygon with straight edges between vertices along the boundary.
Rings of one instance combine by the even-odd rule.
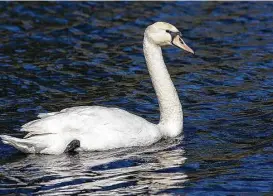
[[[194,54],[194,51],[182,39],[182,33],[169,23],[156,22],[148,26],[144,36],[158,46],[173,45]]]

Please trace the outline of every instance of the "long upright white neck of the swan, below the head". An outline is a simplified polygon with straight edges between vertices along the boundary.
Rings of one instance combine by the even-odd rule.
[[[182,132],[182,106],[165,65],[161,47],[154,44],[144,35],[143,50],[158,98],[160,110],[159,129],[164,135],[175,137]]]

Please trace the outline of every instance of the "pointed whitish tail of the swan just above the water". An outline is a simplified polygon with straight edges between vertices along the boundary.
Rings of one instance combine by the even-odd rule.
[[[20,139],[16,137],[11,137],[7,135],[0,135],[2,142],[13,146],[14,148],[24,152],[24,153],[36,153],[37,143],[29,141],[27,139]]]

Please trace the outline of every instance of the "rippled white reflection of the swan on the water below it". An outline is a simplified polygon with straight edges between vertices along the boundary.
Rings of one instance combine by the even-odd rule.
[[[180,139],[165,140],[151,147],[82,152],[73,156],[29,155],[0,166],[5,176],[2,182],[5,184],[6,180],[10,190],[20,185],[21,189],[37,190],[38,195],[84,191],[96,191],[96,195],[154,194],[167,188],[181,188],[187,180],[183,171],[171,170],[185,162],[184,150],[177,147],[180,143]]]

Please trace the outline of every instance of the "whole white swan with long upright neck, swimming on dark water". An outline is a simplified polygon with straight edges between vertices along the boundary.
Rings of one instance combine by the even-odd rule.
[[[3,143],[25,153],[61,154],[146,146],[162,137],[182,132],[183,113],[176,89],[162,57],[161,46],[174,45],[194,53],[176,27],[164,22],[148,26],[143,50],[159,101],[160,122],[147,120],[118,108],[79,106],[47,114],[22,126],[23,138],[1,135]]]

